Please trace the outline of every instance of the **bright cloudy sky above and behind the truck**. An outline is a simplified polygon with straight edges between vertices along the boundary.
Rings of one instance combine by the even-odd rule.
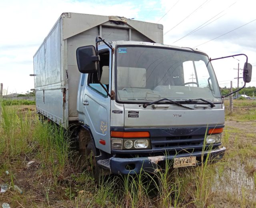
[[[255,8],[253,0],[0,0],[0,83],[8,93],[33,89],[35,52],[63,12],[77,12],[162,24],[164,44],[212,58],[245,53],[253,65],[246,86],[256,86]],[[244,56],[212,61],[220,87],[237,86],[244,62]]]

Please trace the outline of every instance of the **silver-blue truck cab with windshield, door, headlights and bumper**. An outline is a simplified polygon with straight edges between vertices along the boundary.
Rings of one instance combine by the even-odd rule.
[[[108,44],[98,47],[98,70],[86,73],[78,63],[78,117],[93,137],[97,165],[135,174],[164,160],[178,167],[207,154],[222,158],[224,104],[209,57],[149,42]],[[82,50],[78,62],[86,59]]]

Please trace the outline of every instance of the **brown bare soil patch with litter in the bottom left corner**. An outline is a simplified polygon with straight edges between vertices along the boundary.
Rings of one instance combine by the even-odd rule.
[[[33,157],[30,156],[30,158]],[[54,185],[47,178],[47,174],[42,172],[44,168],[40,162],[35,159],[34,163],[28,165],[30,161],[28,158],[25,158],[22,164],[12,161],[12,171],[9,170],[12,176],[5,174],[0,178],[0,184],[11,184],[13,180],[13,183],[23,191],[20,194],[10,188],[7,192],[0,193],[0,206],[2,203],[8,203],[11,208],[71,207],[68,205],[70,202],[66,201],[65,189],[62,186],[59,186],[58,190],[53,189]]]

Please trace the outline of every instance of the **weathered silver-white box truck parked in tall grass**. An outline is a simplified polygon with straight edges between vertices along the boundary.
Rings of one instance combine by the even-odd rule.
[[[218,160],[224,103],[212,60],[164,45],[161,24],[63,13],[34,55],[36,111],[74,132],[95,176]],[[251,73],[246,56],[245,83]]]

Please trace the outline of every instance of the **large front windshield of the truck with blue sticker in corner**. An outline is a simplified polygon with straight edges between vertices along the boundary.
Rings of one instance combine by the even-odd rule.
[[[116,60],[118,101],[144,102],[162,98],[221,101],[212,65],[202,53],[119,46]]]

